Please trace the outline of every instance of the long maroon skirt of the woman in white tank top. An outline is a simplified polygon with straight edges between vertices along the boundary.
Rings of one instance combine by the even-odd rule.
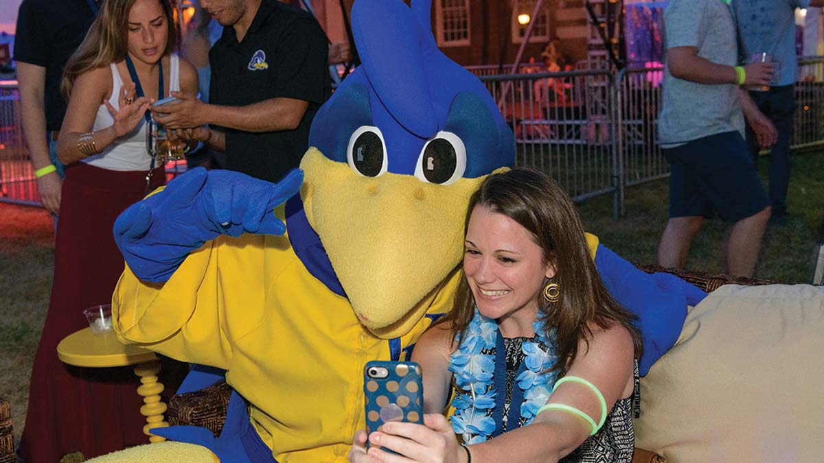
[[[164,173],[152,175],[154,187]],[[115,246],[115,218],[146,192],[145,171],[69,166],[63,182],[49,312],[31,372],[29,409],[20,443],[30,463],[51,463],[70,451],[87,458],[147,442],[143,400],[132,367],[69,367],[57,345],[86,326],[82,310],[111,302],[124,260]],[[167,384],[169,391],[174,384]],[[173,391],[173,390],[172,390]]]

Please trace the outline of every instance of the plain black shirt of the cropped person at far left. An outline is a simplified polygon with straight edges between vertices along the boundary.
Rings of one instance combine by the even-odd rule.
[[[59,130],[63,124],[63,68],[94,19],[87,0],[23,0],[20,4],[12,58],[46,68],[46,130]]]

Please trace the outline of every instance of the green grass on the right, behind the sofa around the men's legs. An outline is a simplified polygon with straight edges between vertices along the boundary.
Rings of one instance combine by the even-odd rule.
[[[766,157],[759,171],[766,178]],[[779,282],[812,281],[812,252],[824,241],[824,153],[795,157],[785,224],[770,225],[764,237],[756,278]],[[585,227],[602,243],[635,264],[655,264],[658,240],[667,224],[669,181],[655,180],[626,190],[626,217],[612,218],[612,198],[603,196],[578,205]],[[686,268],[710,273],[725,269],[724,246],[729,225],[705,220],[692,244]]]

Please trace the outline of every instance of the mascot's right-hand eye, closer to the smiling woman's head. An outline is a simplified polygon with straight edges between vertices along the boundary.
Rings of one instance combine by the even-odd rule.
[[[420,152],[414,176],[428,183],[450,185],[466,171],[466,147],[452,132],[438,132]]]

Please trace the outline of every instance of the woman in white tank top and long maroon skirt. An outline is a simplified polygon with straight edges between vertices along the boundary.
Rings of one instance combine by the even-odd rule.
[[[58,155],[68,167],[52,296],[21,440],[28,461],[58,461],[76,450],[90,458],[147,442],[139,413],[142,400],[130,370],[69,370],[57,358],[56,347],[88,326],[84,308],[111,301],[123,272],[112,227],[119,213],[146,194],[152,158],[146,150],[144,113],[170,91],[197,93],[194,67],[172,53],[175,37],[169,0],[105,0],[66,66],[63,91],[69,100]],[[130,77],[127,58],[137,79]],[[144,96],[138,95],[138,87]],[[162,165],[152,180],[152,188],[165,183]],[[170,371],[169,366],[164,370]],[[176,389],[169,377],[163,382],[167,390]],[[116,406],[101,409],[100,404]]]

